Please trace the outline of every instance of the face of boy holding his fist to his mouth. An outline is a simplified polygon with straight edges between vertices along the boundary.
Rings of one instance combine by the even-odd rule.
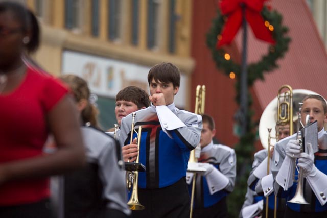
[[[155,82],[154,79],[150,82],[150,94],[164,94],[166,105],[170,105],[174,102],[174,96],[177,94],[179,87],[173,86],[172,82],[162,83],[160,81]]]

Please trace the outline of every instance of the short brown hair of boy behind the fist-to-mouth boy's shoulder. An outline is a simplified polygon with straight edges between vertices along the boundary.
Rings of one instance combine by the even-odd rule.
[[[118,92],[116,101],[133,102],[138,109],[150,106],[148,93],[137,86],[127,86]]]

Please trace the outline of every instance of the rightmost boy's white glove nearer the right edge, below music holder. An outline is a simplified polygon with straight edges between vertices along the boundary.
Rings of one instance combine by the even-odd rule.
[[[315,156],[313,154],[313,149],[311,143],[307,144],[308,154],[302,152],[300,157],[298,158],[297,166],[302,169],[302,173],[304,177],[308,175],[315,174],[317,168],[314,165]]]

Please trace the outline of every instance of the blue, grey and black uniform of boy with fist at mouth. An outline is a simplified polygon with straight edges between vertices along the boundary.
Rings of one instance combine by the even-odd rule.
[[[138,127],[142,126],[139,162],[146,166],[146,172],[139,172],[138,187],[142,190],[138,193],[138,196],[140,202],[141,200],[145,202],[141,202],[141,204],[145,204],[146,209],[139,212],[133,211],[132,215],[136,217],[134,215],[138,213],[146,217],[175,217],[172,213],[169,213],[169,207],[173,207],[171,211],[175,211],[180,209],[181,204],[175,206],[172,205],[174,203],[169,204],[168,202],[169,205],[167,205],[166,211],[161,211],[165,208],[155,205],[157,199],[153,195],[164,195],[165,200],[174,201],[176,197],[168,196],[170,194],[164,192],[165,188],[169,189],[175,184],[184,185],[185,189],[176,187],[175,194],[177,196],[186,196],[186,199],[182,201],[186,202],[184,207],[188,207],[186,169],[190,151],[200,142],[202,117],[188,111],[179,110],[174,103],[168,106],[155,107],[151,105],[135,113],[135,130],[138,131]],[[122,146],[130,143],[131,122],[131,114],[122,119],[119,139]],[[135,137],[137,137],[136,133],[133,133],[133,138]],[[154,194],[151,192],[152,190],[162,191]],[[152,199],[152,201],[149,201],[149,199]],[[160,212],[155,212],[157,209]],[[154,210],[153,213],[152,210]],[[173,214],[177,213],[178,211]]]

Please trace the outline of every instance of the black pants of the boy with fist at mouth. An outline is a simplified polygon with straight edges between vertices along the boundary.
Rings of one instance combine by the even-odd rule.
[[[132,211],[133,218],[189,218],[190,197],[185,177],[165,188],[138,188],[144,210]]]

